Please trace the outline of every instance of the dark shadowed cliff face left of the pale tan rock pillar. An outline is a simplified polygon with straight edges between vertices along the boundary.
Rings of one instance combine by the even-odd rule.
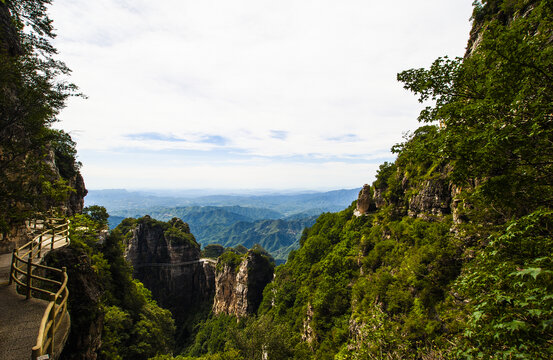
[[[214,266],[200,260],[200,246],[186,223],[145,216],[127,236],[125,258],[134,268],[133,276],[162,307],[179,318],[191,306],[211,301]]]

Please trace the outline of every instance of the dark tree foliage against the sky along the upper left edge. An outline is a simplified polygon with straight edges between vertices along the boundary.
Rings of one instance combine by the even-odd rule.
[[[77,88],[60,80],[69,69],[54,59],[49,3],[0,3],[0,231],[59,206],[71,191],[63,180],[79,166],[69,135],[50,128]],[[50,151],[61,179],[44,161]]]

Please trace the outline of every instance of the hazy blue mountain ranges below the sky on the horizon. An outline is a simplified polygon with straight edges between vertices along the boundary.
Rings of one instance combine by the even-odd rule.
[[[357,199],[360,189],[297,194],[173,197],[126,190],[90,190],[85,205],[104,206],[110,228],[124,218],[181,218],[203,246],[248,248],[260,244],[277,262],[299,247],[299,238],[323,212],[339,211]]]

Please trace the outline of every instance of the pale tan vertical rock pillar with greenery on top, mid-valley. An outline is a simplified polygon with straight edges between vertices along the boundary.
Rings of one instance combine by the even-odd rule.
[[[256,313],[263,290],[273,279],[274,265],[267,256],[254,250],[242,257],[225,255],[217,261],[213,312],[237,317]]]

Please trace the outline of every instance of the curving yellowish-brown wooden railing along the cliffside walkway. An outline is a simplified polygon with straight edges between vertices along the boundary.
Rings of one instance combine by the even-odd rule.
[[[60,224],[60,221],[63,223]],[[57,269],[41,265],[33,262],[33,259],[38,261],[48,250],[69,243],[69,221],[35,220],[28,227],[36,235],[28,243],[13,250],[10,284],[15,282],[19,285],[27,299],[33,296],[50,301],[42,316],[37,342],[32,349],[32,358],[36,359],[45,354],[54,358],[56,331],[67,315],[67,270],[65,267]],[[53,279],[54,277],[58,277],[59,280]]]

